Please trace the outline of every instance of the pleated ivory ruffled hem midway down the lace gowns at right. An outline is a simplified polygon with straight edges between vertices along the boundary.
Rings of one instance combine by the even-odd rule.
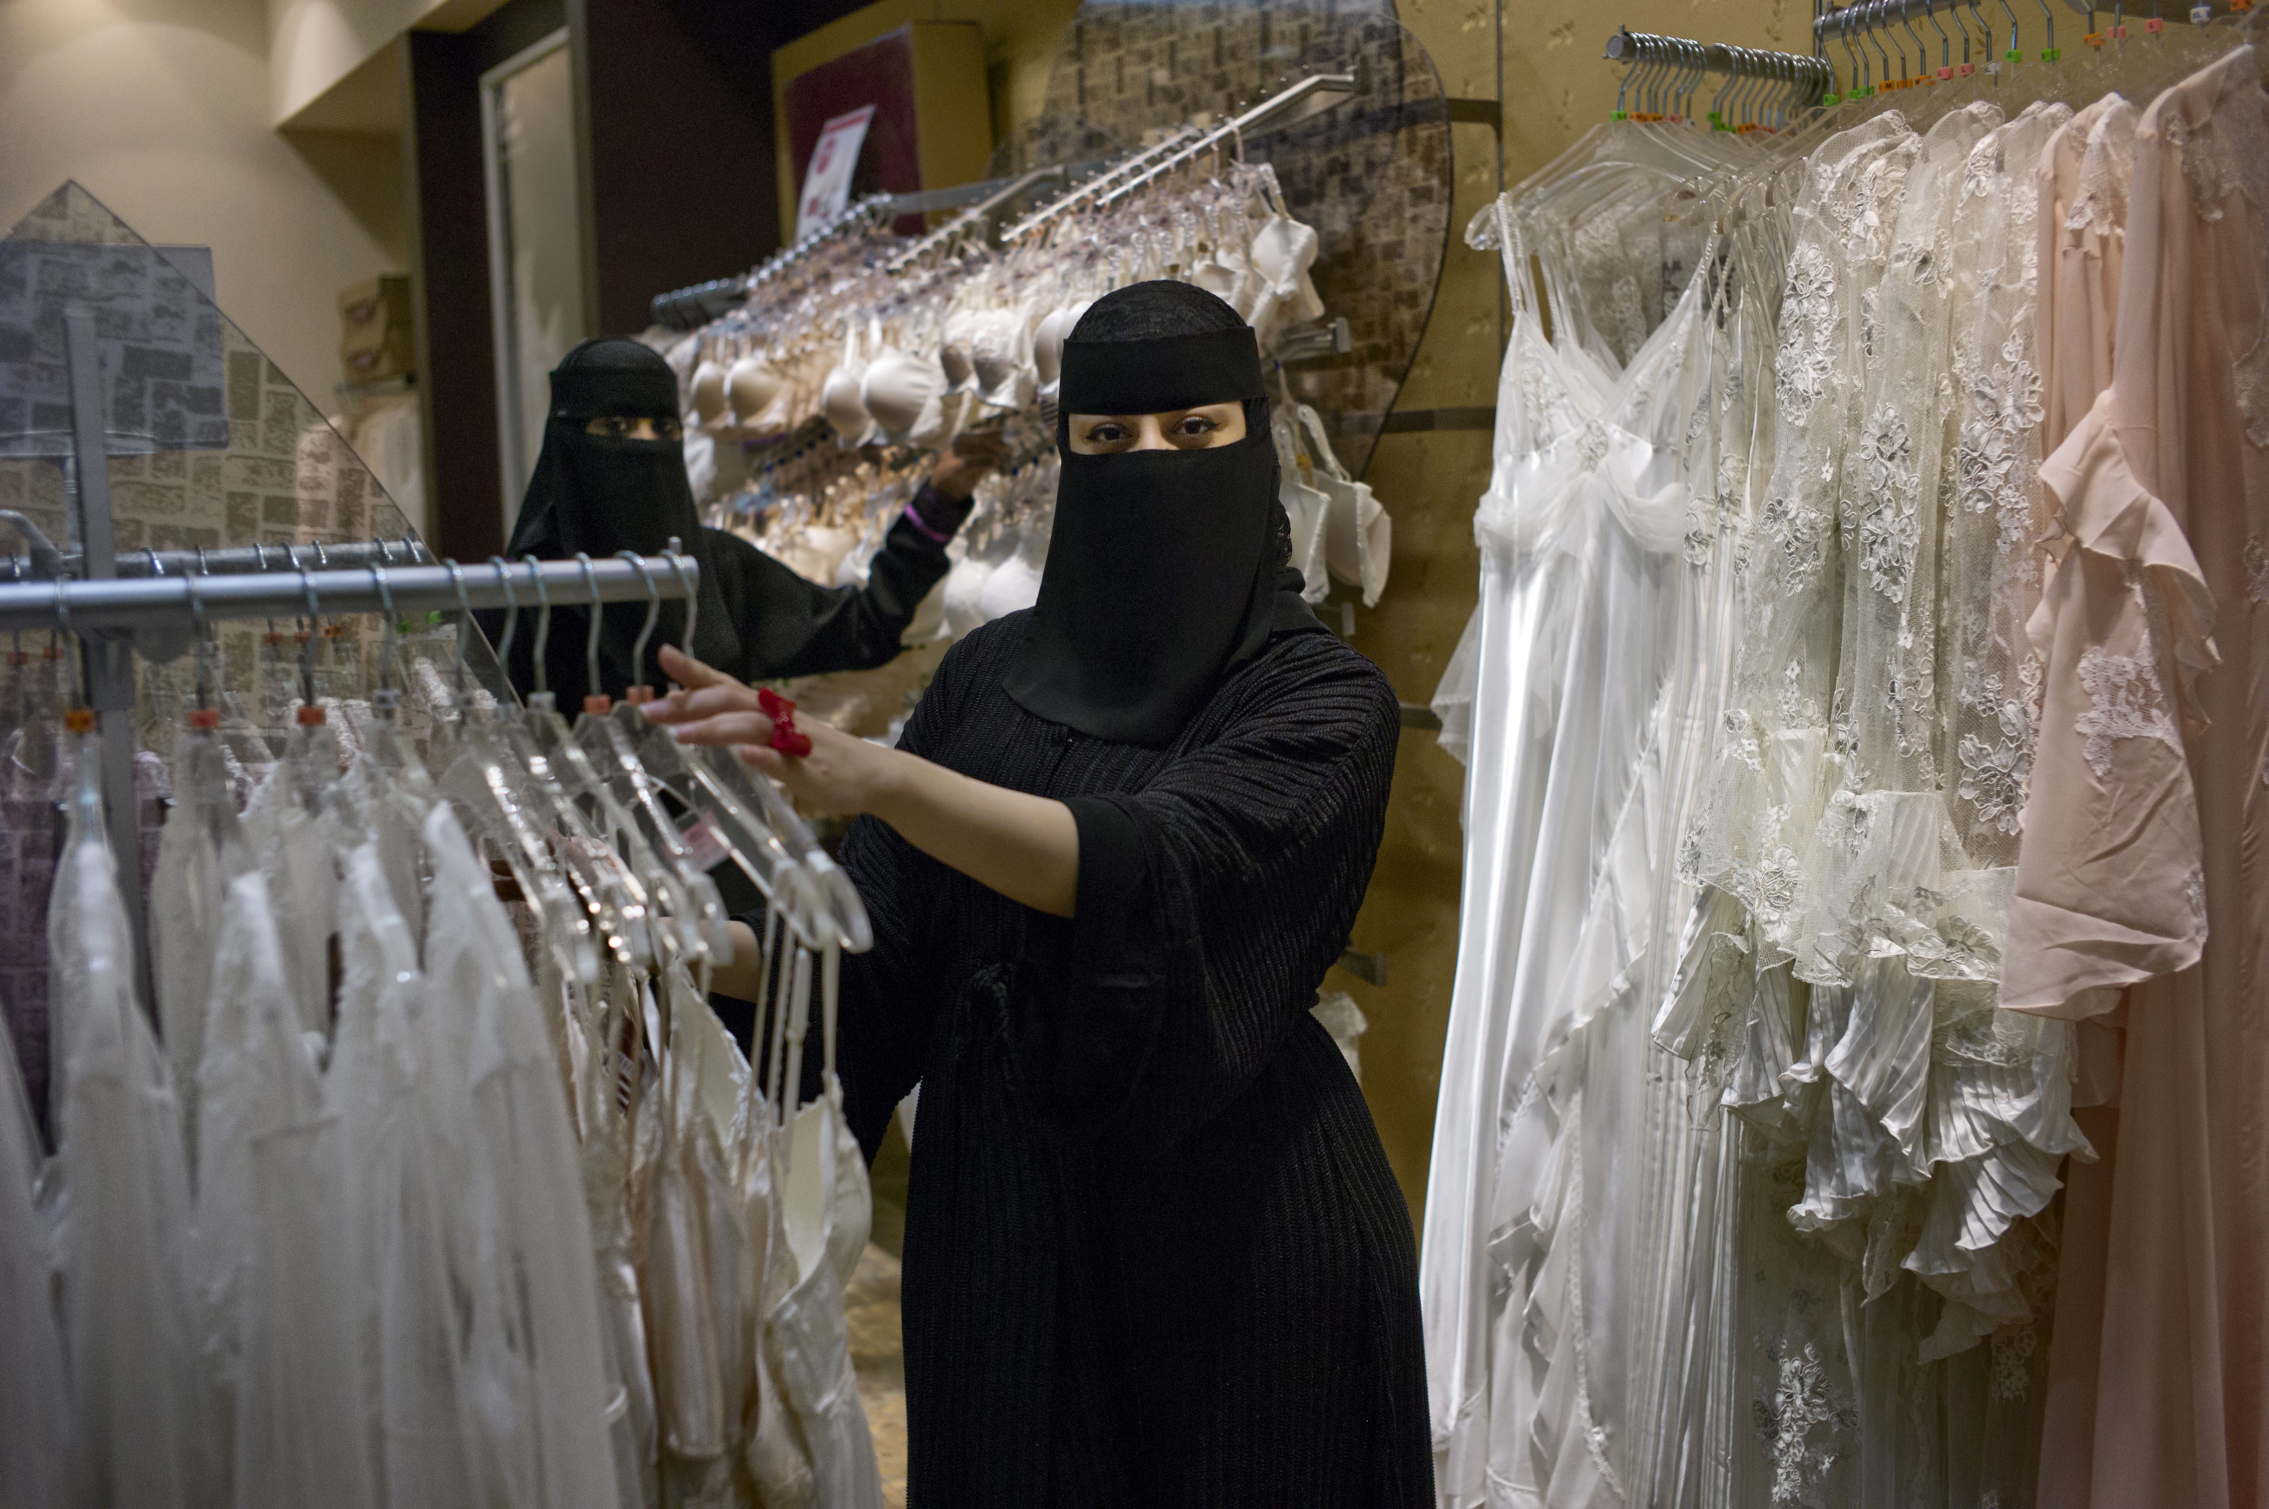
[[[1960,1314],[1933,1343],[1960,1350],[2031,1318],[2060,1162],[2094,1150],[2072,1121],[2072,1028],[1915,964],[1917,951],[1870,953],[1852,985],[1797,996],[1738,901],[1711,892],[1654,1037],[1693,1064],[1697,1098],[1804,1146],[1788,1223],[1870,1296],[1901,1271],[1945,1296]]]

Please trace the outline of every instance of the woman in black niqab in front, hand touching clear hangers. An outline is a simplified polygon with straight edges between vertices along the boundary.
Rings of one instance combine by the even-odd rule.
[[[912,1502],[1418,1509],[1409,1207],[1309,1010],[1377,855],[1395,697],[1284,567],[1234,311],[1098,300],[1062,408],[1039,601],[955,644],[896,749],[815,726],[781,756],[747,688],[674,651],[688,690],[649,710],[860,815],[842,867],[876,942],[844,960],[837,1060],[869,1157],[921,1085]],[[753,994],[735,937],[719,989]]]

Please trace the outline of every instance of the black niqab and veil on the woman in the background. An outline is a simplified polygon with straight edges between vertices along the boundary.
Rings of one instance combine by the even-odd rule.
[[[699,642],[692,654],[710,665],[740,665],[740,635],[719,595],[715,547],[701,529],[692,483],[685,479],[685,447],[676,440],[617,440],[585,433],[599,418],[676,420],[678,377],[660,354],[624,340],[599,336],[567,352],[551,370],[551,413],[545,418],[545,449],[535,458],[535,477],[513,524],[513,560],[538,556],[558,560],[588,551],[604,560],[619,549],[658,556],[678,540],[678,549],[701,565]],[[533,606],[522,601],[522,606]],[[629,685],[660,685],[656,649],[683,642],[685,608],[663,604],[647,665],[633,667],[631,651],[644,608],[615,604],[601,617],[599,685],[588,688],[583,642],[590,629],[588,608],[554,595],[551,642],[545,656],[549,690],[570,713],[585,690],[619,697]],[[499,615],[501,622],[501,615]],[[495,631],[490,631],[495,633]],[[533,688],[533,633],[522,624],[513,638],[513,685]]]

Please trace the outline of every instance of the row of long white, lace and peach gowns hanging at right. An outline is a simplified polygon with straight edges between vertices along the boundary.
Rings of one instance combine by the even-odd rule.
[[[2262,57],[1942,36],[1468,231],[1443,1504],[2260,1502]]]

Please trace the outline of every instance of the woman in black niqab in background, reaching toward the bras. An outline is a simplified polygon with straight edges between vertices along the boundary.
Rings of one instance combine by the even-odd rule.
[[[635,420],[656,427],[658,438],[629,433]],[[821,588],[740,536],[701,524],[676,424],[678,379],[658,352],[617,336],[567,352],[551,372],[545,445],[506,554],[558,560],[581,551],[606,560],[624,549],[658,556],[678,540],[701,567],[690,649],[742,681],[867,669],[896,656],[921,599],[948,570],[946,542],[969,515],[969,490],[989,461],[944,458],[908,517],[892,524],[867,585]],[[629,685],[660,685],[651,651],[647,665],[631,665],[642,610],[617,608],[601,617],[599,685],[590,688],[585,613],[554,599],[545,683],[563,708],[574,710],[592,690],[619,697]],[[683,622],[685,610],[665,604],[656,638]],[[486,626],[495,638],[501,615]],[[520,692],[535,688],[533,635],[513,638],[508,672]]]

